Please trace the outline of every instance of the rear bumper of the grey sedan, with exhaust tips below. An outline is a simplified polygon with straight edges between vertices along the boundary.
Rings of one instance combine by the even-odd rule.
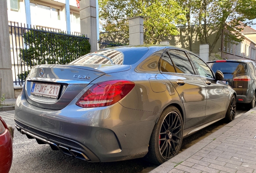
[[[19,96],[15,126],[38,143],[87,161],[121,161],[143,157],[159,113],[109,107],[81,108],[70,103],[62,110],[43,109]]]

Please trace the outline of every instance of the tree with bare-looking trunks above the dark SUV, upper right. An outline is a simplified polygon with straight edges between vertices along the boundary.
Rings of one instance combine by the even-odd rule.
[[[251,0],[194,0],[195,24],[198,24],[201,44],[209,44],[209,54],[213,51],[220,36],[227,35],[230,40],[241,42],[244,38],[238,28],[243,22],[252,24],[256,18],[256,1]],[[225,29],[227,32],[225,33]],[[209,36],[216,32],[214,40]]]

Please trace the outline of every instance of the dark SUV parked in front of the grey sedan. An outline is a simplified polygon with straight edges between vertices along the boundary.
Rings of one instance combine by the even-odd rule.
[[[246,103],[248,109],[255,107],[256,64],[251,60],[214,60],[206,62],[214,72],[224,74],[223,82],[237,93],[237,103]]]

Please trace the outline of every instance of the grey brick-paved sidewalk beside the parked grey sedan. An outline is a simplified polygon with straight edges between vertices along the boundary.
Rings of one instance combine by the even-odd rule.
[[[150,173],[255,173],[256,108]]]

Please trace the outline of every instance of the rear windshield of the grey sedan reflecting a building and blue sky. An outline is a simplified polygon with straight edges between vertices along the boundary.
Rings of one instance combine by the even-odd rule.
[[[86,54],[69,64],[124,64],[131,65],[142,56],[149,48],[147,47],[120,47],[115,49],[101,49],[96,52]]]

